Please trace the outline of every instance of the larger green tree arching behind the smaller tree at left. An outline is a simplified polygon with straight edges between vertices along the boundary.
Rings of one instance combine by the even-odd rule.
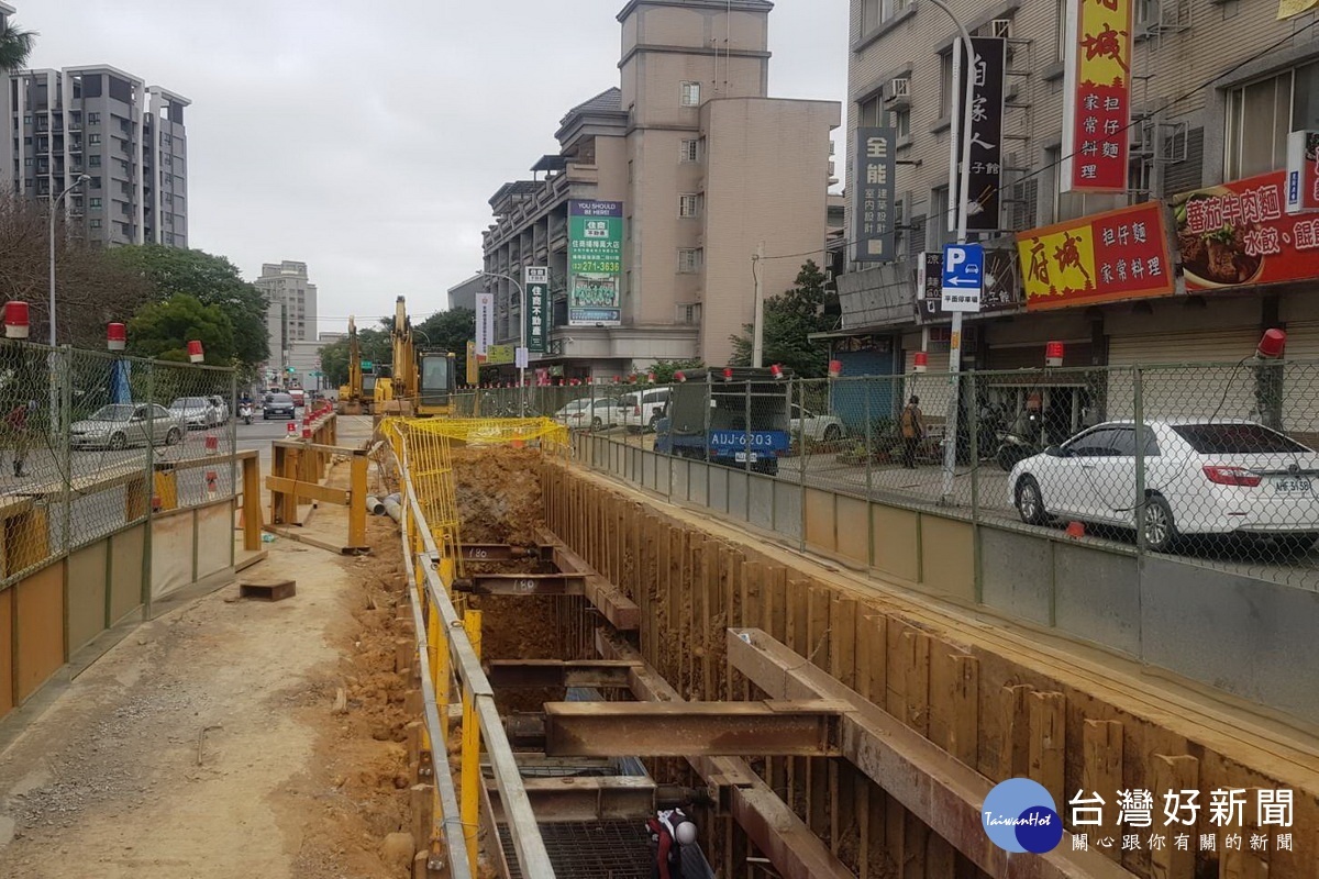
[[[265,297],[227,258],[162,244],[115,248],[108,253],[125,270],[141,277],[157,302],[185,294],[220,308],[232,327],[230,351],[232,362],[243,368],[240,381],[249,381],[257,365],[270,356]]]

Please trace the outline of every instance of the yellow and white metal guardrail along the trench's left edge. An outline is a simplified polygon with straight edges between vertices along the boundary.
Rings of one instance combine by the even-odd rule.
[[[433,746],[443,751],[447,733],[447,696],[450,676],[455,677],[463,693],[463,758],[460,779],[460,801],[452,796],[452,787],[445,789],[441,778],[446,772],[437,771],[437,829],[459,826],[466,845],[446,836],[448,862],[455,876],[468,876],[476,872],[476,821],[480,791],[480,739],[484,737],[485,752],[500,803],[506,818],[506,826],[517,854],[518,867],[525,876],[554,879],[554,867],[541,837],[536,813],[522,784],[522,776],[513,756],[512,746],[504,730],[504,723],[495,704],[495,691],[481,668],[479,655],[479,622],[474,627],[471,611],[464,619],[450,600],[450,589],[459,559],[456,556],[456,531],[442,534],[437,540],[426,518],[425,501],[415,488],[410,470],[412,453],[406,427],[409,422],[392,419],[383,424],[383,432],[392,439],[394,456],[400,464],[404,494],[401,539],[404,555],[412,575],[413,621],[417,627],[418,656],[426,659],[427,673],[422,675],[425,701],[426,734]],[[452,502],[452,463],[448,457],[448,439],[435,432],[419,432],[431,441],[439,443],[438,455],[430,453],[426,461],[426,481],[442,496],[442,503]],[[434,452],[434,451],[433,451]],[[447,469],[447,478],[443,470]],[[447,485],[446,485],[447,482]],[[456,522],[452,515],[441,513],[445,519]],[[443,547],[443,551],[442,551]],[[431,567],[437,559],[437,567]],[[474,635],[476,644],[474,644]],[[427,680],[427,677],[430,680]],[[442,704],[445,702],[445,704]],[[445,760],[434,760],[445,763]],[[454,809],[458,809],[455,816]],[[421,845],[422,841],[418,841]],[[463,861],[466,855],[466,862]]]

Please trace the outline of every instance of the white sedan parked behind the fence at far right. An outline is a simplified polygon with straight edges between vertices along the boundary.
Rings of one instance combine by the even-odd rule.
[[[1254,422],[1146,422],[1145,544],[1240,534],[1304,552],[1319,539],[1319,453]],[[1136,526],[1136,424],[1108,422],[1021,461],[1008,477],[1024,522]]]

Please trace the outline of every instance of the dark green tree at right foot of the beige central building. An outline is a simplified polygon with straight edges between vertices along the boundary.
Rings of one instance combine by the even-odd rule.
[[[828,351],[809,336],[830,326],[824,316],[824,273],[814,260],[807,260],[795,283],[791,290],[765,300],[762,362],[778,364],[803,378],[818,378],[828,372]],[[753,332],[752,324],[744,324],[743,335],[729,336],[733,343],[731,365],[751,365]]]

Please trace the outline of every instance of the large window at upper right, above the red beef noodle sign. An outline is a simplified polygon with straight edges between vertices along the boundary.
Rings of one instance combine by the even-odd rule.
[[[1319,128],[1319,62],[1228,92],[1224,174],[1253,177],[1287,163],[1287,134]]]

